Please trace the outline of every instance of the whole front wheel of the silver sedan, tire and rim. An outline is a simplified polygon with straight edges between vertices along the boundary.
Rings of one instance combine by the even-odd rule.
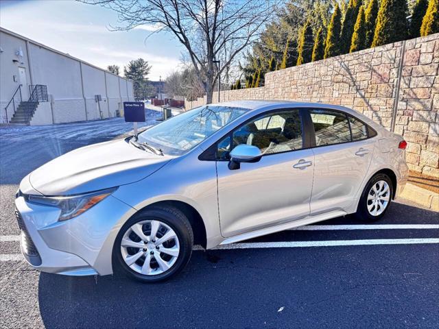
[[[191,224],[174,207],[152,206],[121,228],[113,255],[119,269],[142,282],[168,280],[189,262]]]

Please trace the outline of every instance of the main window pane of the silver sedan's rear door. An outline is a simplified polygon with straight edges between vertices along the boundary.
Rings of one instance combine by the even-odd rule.
[[[316,135],[316,146],[333,145],[351,141],[346,114],[331,110],[310,110]]]

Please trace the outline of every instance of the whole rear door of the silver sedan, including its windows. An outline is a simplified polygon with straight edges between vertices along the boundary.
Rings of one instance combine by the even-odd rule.
[[[374,149],[368,127],[338,110],[310,109],[315,146],[311,215],[344,210],[366,177]]]

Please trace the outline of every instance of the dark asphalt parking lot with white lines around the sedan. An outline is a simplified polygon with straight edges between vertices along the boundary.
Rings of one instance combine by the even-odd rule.
[[[21,178],[131,129],[123,119],[0,128],[0,328],[439,327],[439,214],[403,199],[377,223],[340,217],[194,251],[161,284],[34,271],[13,214]]]

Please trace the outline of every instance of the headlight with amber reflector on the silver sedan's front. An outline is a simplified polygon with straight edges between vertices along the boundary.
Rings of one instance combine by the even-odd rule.
[[[54,206],[60,208],[61,214],[58,221],[65,221],[71,219],[83,212],[86,212],[91,207],[95,206],[103,199],[108,197],[117,188],[108,188],[106,190],[86,193],[82,195],[72,195],[68,197],[44,197],[39,195],[27,195],[28,202],[34,204],[42,204],[44,206]]]

